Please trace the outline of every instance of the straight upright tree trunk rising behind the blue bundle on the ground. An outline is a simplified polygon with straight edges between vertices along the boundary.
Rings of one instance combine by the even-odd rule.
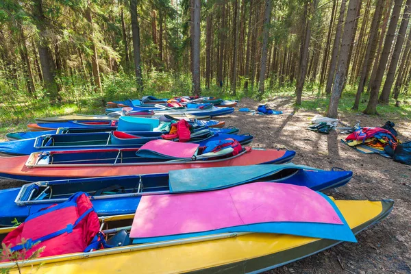
[[[260,62],[260,85],[258,87],[258,97],[262,98],[264,95],[264,81],[266,76],[266,62],[267,62],[267,51],[269,50],[269,31],[270,31],[270,21],[271,21],[271,0],[265,1],[265,11],[264,11],[264,30],[262,32],[262,53]]]

